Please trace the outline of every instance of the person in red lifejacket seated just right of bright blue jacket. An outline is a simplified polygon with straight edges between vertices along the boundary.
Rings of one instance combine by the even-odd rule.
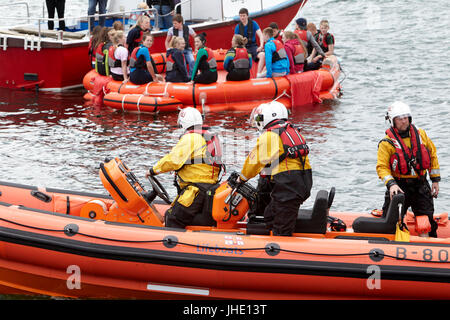
[[[289,74],[303,72],[308,50],[303,41],[292,31],[283,33],[284,48],[289,59]]]

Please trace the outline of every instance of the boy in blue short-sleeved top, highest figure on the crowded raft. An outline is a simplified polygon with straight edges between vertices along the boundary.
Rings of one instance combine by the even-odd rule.
[[[264,47],[262,31],[256,21],[248,17],[247,8],[239,10],[239,20],[240,22],[236,28],[234,28],[234,34],[240,34],[244,38],[247,38],[248,42],[245,47],[252,55],[253,60],[258,62],[258,52],[262,51]],[[258,36],[259,39],[259,47],[256,43],[256,36]]]

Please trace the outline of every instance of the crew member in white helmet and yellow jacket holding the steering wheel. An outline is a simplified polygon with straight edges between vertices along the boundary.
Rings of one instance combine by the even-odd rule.
[[[184,134],[169,154],[151,167],[147,175],[175,171],[178,196],[165,215],[165,226],[185,228],[192,225],[214,225],[203,208],[207,191],[216,186],[222,168],[222,148],[217,136],[203,126],[203,117],[195,108],[182,109],[178,125]]]

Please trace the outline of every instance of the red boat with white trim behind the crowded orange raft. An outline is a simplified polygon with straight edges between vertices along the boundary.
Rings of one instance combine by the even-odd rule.
[[[248,4],[245,1],[239,2],[239,5],[247,6],[250,17],[261,28],[273,21],[277,22],[280,28],[285,28],[306,1],[289,0],[281,1],[277,5],[263,6],[262,2],[252,0],[247,1]],[[258,7],[255,8],[255,5]],[[198,11],[204,12],[203,19],[200,13],[193,14],[193,12],[195,13],[194,8],[186,4],[182,6],[181,13],[188,17],[186,23],[197,33],[206,32],[208,34],[209,47],[213,49],[228,48],[234,27],[239,22],[237,15],[239,9],[236,10],[236,15],[233,17],[225,17],[224,10],[236,7],[236,4],[230,0],[222,0],[219,6],[222,13],[220,16],[212,14],[211,10],[207,10],[204,6],[202,10],[199,7],[197,6]],[[128,21],[131,15],[126,16],[125,13],[118,12],[109,15],[115,17],[115,20]],[[41,22],[42,18],[35,20],[40,21],[41,27],[34,25],[27,28],[0,29],[0,87],[59,91],[81,86],[84,75],[92,68],[87,54],[89,37],[86,30],[77,29],[74,32],[64,31],[64,33],[42,31],[41,28],[44,25]],[[80,21],[81,26],[86,26],[86,22]],[[152,51],[164,52],[167,30],[153,31],[153,34],[155,42]]]

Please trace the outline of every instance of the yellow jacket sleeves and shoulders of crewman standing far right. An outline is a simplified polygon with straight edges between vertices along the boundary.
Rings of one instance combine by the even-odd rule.
[[[439,162],[436,154],[436,147],[423,129],[418,128],[418,131],[423,145],[430,153],[431,168],[428,173],[430,175],[431,181],[440,181],[441,175],[439,171]],[[388,135],[386,135],[384,139],[390,138]],[[408,148],[411,148],[411,138],[407,137],[402,139],[405,145],[408,146]],[[394,180],[395,178],[418,178],[419,176],[415,172],[414,175],[401,175],[391,170],[390,159],[391,156],[395,153],[395,148],[388,141],[383,140],[378,145],[376,168],[378,177],[380,177],[384,184],[387,185],[391,180]],[[425,171],[426,170],[423,170],[422,174],[425,174]]]

